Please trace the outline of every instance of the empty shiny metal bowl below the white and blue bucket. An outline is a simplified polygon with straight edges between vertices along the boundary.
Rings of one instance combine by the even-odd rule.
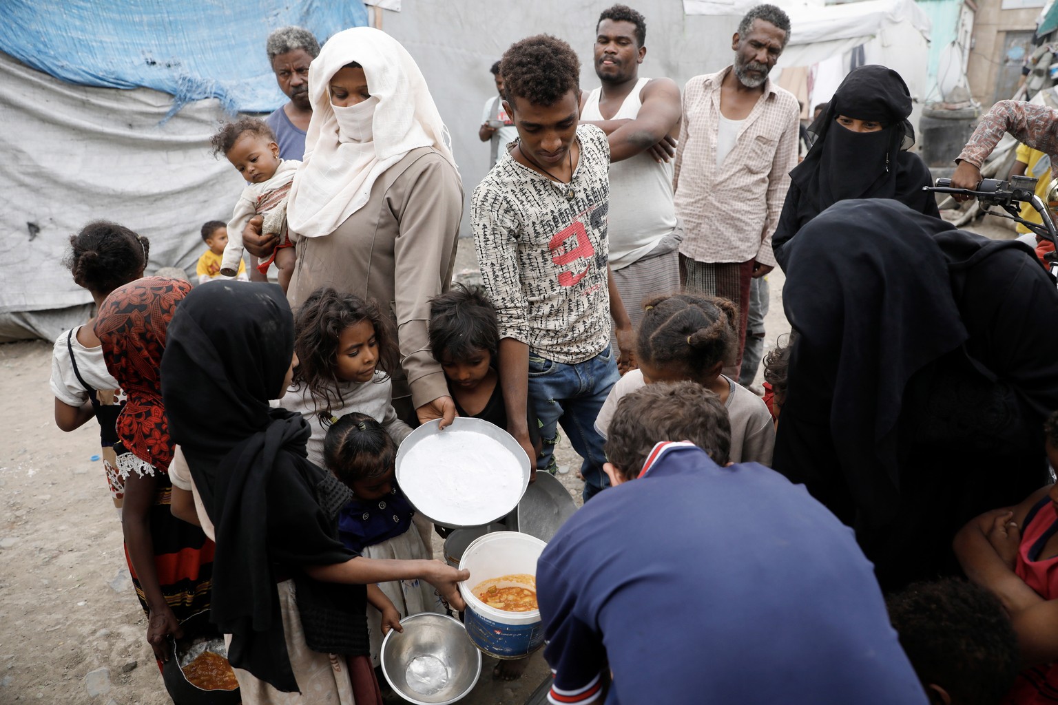
[[[416,705],[445,705],[467,697],[481,675],[481,652],[458,620],[422,612],[400,620],[382,641],[382,673]]]

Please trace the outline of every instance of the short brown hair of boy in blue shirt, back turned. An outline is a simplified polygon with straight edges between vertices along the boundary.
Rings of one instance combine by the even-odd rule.
[[[685,381],[645,385],[625,394],[606,433],[606,458],[625,480],[634,480],[661,441],[690,441],[726,465],[731,421],[720,397]]]

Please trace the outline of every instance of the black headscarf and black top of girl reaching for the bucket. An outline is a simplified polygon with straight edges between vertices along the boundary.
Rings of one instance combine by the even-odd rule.
[[[293,346],[278,286],[211,282],[178,309],[162,359],[169,428],[216,530],[211,621],[232,634],[233,666],[288,692],[297,683],[275,567],[296,572],[355,556],[338,540],[340,504],[321,496],[333,478],[306,458],[309,426],[269,406]]]

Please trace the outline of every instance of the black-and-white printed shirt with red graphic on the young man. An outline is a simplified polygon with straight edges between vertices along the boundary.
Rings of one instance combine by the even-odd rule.
[[[565,365],[609,345],[609,144],[594,125],[569,184],[501,159],[474,189],[471,223],[499,335]]]

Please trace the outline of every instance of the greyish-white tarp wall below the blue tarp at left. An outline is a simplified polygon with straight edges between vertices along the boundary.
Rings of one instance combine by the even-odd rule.
[[[150,239],[150,267],[194,273],[199,227],[231,218],[243,182],[209,155],[209,136],[231,119],[216,99],[185,105],[146,88],[72,86],[0,53],[0,341],[51,338],[83,321],[88,293],[62,258],[90,220],[112,220]]]

